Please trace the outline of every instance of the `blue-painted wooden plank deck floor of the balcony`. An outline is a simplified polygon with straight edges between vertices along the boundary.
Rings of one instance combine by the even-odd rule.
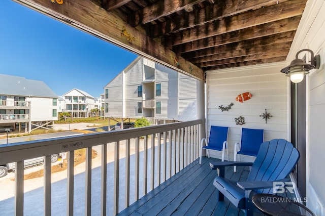
[[[217,190],[212,184],[217,171],[210,169],[210,161],[220,160],[203,157],[202,165],[199,160],[194,161],[118,215],[244,215],[228,199],[217,201]],[[237,167],[234,174],[231,166],[225,177],[245,181],[248,173],[249,167]]]

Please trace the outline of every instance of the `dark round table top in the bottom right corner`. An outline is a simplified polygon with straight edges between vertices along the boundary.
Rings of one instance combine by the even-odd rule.
[[[270,216],[314,216],[306,206],[295,200],[273,194],[256,194],[252,197],[254,205]]]

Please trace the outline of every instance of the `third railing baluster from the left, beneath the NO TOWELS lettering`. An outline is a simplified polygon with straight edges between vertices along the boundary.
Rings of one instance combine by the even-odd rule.
[[[67,215],[73,215],[75,151],[68,152]]]

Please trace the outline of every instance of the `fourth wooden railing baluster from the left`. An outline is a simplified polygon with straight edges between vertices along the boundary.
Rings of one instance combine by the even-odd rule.
[[[86,148],[85,215],[91,215],[91,149]]]

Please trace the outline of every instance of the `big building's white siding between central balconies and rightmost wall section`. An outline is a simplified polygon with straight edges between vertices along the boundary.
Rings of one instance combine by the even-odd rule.
[[[155,113],[159,119],[178,118],[178,74],[176,71],[160,64],[155,64],[155,83],[161,83],[161,96],[155,96],[161,102],[161,113]]]

